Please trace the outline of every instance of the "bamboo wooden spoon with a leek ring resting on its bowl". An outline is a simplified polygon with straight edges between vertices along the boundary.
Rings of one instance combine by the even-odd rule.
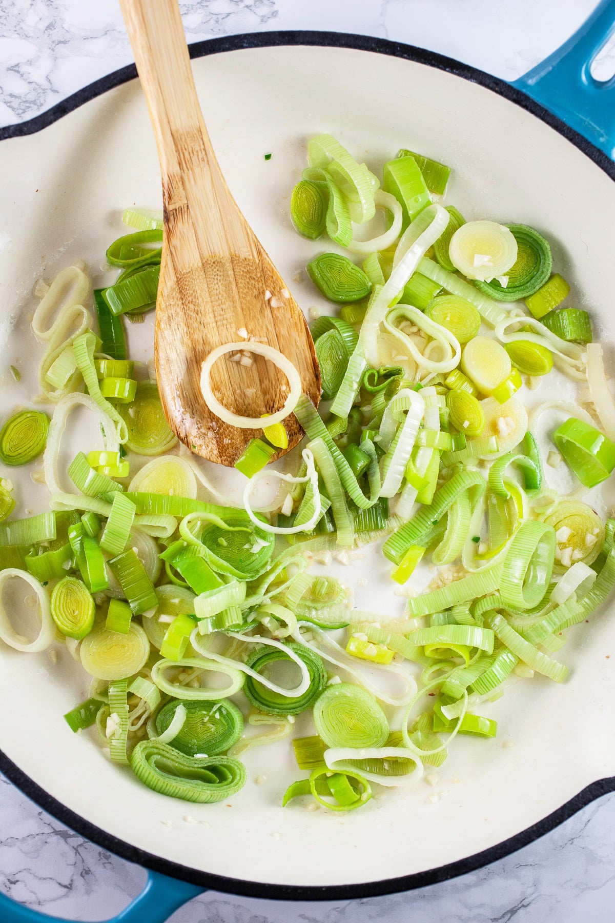
[[[268,343],[297,368],[303,393],[320,399],[320,373],[302,311],[245,221],[220,172],[196,96],[177,0],[120,0],[148,101],[162,175],[164,237],[154,355],[169,424],[190,450],[233,465],[262,429],[239,429],[212,414],[201,366],[242,332]],[[212,88],[215,91],[215,88]],[[128,152],[130,156],[130,152]],[[286,376],[262,356],[252,365],[223,356],[215,395],[234,414],[273,414],[288,395]],[[284,421],[290,450],[303,431]],[[284,454],[280,450],[278,455]]]

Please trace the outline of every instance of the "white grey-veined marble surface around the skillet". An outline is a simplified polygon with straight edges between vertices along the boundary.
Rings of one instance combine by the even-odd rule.
[[[562,42],[595,0],[184,0],[189,41],[233,32],[361,32],[514,79]],[[0,0],[0,124],[43,112],[131,59],[115,0]],[[608,76],[613,54],[603,56]],[[605,729],[609,733],[609,729]],[[562,767],[565,771],[565,767]],[[145,880],[0,777],[0,888],[53,916],[116,914]],[[607,923],[615,905],[615,795],[464,878],[409,894],[277,904],[208,893],[172,923]]]

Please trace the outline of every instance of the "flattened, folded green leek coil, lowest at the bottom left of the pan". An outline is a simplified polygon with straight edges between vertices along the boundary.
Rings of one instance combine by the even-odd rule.
[[[136,777],[160,795],[199,804],[213,804],[236,795],[247,773],[230,756],[190,757],[169,744],[142,740],[130,764]]]

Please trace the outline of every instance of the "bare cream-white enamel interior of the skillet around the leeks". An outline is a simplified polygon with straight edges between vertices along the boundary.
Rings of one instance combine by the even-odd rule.
[[[334,40],[337,47],[318,46]],[[365,50],[368,44],[375,51]],[[226,54],[211,54],[221,50]],[[555,267],[573,285],[570,304],[590,309],[600,339],[612,339],[615,186],[606,160],[591,149],[598,166],[516,104],[520,94],[455,66],[470,78],[462,79],[435,55],[352,36],[269,33],[205,43],[201,53],[196,86],[224,174],[305,309],[322,303],[310,282],[293,280],[326,244],[292,232],[288,203],[306,139],[329,131],[376,172],[399,147],[432,155],[454,168],[446,202],[467,219],[526,222],[548,234]],[[146,104],[136,79],[120,82],[132,75],[126,69],[43,131],[0,145],[3,416],[35,388],[40,349],[26,319],[35,280],[52,278],[77,258],[96,275],[106,246],[122,233],[121,211],[160,207]],[[151,332],[150,324],[130,328],[136,358],[151,354]],[[22,386],[10,381],[11,364],[24,373]],[[71,449],[80,448],[77,433]],[[29,472],[17,474],[10,472],[18,497],[29,509],[44,509],[44,489],[32,485]],[[388,570],[382,556],[349,566],[348,582],[368,579],[357,605],[401,611]],[[248,784],[228,804],[160,797],[106,761],[88,734],[67,731],[63,714],[88,684],[65,651],[53,665],[46,654],[3,648],[0,769],[43,808],[118,855],[217,890],[296,898],[398,891],[485,864],[615,787],[609,612],[573,629],[561,658],[572,678],[562,686],[539,678],[519,683],[486,706],[499,722],[498,737],[458,738],[435,786],[390,789],[366,809],[340,816],[280,807],[286,786],[302,776],[288,741],[246,756]],[[257,776],[266,781],[256,784]]]

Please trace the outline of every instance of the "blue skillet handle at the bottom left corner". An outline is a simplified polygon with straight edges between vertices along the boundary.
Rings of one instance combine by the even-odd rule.
[[[203,888],[187,881],[148,871],[148,882],[143,891],[108,923],[165,923],[175,910],[200,893],[203,893]],[[74,923],[65,917],[48,917],[38,910],[23,907],[5,894],[0,894],[0,920],[2,923]]]

